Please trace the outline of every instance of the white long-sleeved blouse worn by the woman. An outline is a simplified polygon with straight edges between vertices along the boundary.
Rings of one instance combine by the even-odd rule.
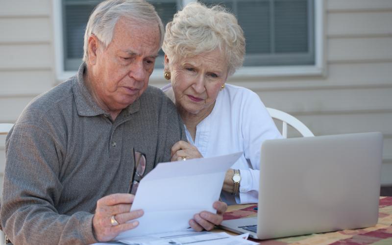
[[[170,84],[162,90],[174,100]],[[243,151],[231,167],[241,172],[240,194],[222,192],[221,199],[229,205],[258,202],[261,144],[282,136],[256,93],[226,83],[210,115],[197,124],[195,141],[187,129],[186,135],[204,157]]]

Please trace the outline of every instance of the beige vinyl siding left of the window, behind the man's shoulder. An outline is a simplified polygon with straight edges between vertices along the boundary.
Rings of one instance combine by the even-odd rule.
[[[55,84],[51,0],[0,0],[0,123]],[[0,135],[0,191],[5,165]]]

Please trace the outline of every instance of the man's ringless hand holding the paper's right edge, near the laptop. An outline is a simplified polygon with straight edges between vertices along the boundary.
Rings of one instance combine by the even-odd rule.
[[[196,230],[202,231],[212,230],[215,225],[221,224],[223,221],[223,214],[227,210],[227,204],[221,201],[216,201],[213,204],[213,207],[217,210],[216,214],[202,211],[199,214],[196,214],[192,220],[189,221],[189,225]]]

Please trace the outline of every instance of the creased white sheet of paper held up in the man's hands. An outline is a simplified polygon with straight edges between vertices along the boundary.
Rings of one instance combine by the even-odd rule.
[[[131,210],[143,209],[139,225],[116,237],[180,231],[201,211],[216,213],[226,171],[242,152],[158,164],[140,181]]]

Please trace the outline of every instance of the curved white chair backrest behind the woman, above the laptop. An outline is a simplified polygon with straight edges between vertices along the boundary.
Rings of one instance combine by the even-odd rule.
[[[283,138],[287,138],[287,124],[290,126],[294,127],[303,137],[312,137],[315,136],[312,131],[309,130],[305,124],[303,124],[301,121],[298,119],[294,118],[292,115],[272,109],[272,108],[267,108],[268,113],[270,113],[271,118],[277,119],[279,121],[282,121],[283,123],[283,128],[282,128],[282,136]]]

